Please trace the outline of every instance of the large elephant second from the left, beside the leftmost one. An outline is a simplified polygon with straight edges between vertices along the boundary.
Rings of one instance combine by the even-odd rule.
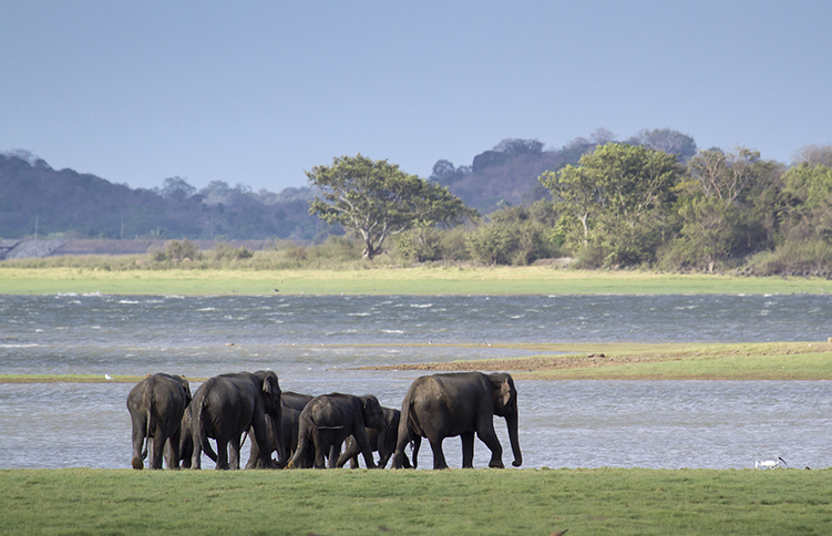
[[[239,372],[209,378],[191,403],[191,467],[201,468],[202,451],[216,461],[217,470],[238,470],[240,436],[250,429],[251,455],[246,468],[273,468],[267,420],[280,422],[280,386],[273,371]],[[286,458],[280,427],[274,429],[278,460]],[[215,453],[208,437],[217,442]],[[230,454],[229,454],[230,450]]]

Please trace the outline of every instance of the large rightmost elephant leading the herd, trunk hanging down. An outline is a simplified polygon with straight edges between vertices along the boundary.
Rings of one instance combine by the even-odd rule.
[[[417,378],[402,401],[393,467],[402,467],[404,446],[421,436],[433,450],[433,468],[448,468],[442,441],[455,435],[462,437],[462,466],[473,467],[474,433],[491,449],[489,467],[503,467],[494,415],[505,418],[514,453],[512,465],[518,467],[523,455],[517,439],[517,390],[510,374],[459,372]]]

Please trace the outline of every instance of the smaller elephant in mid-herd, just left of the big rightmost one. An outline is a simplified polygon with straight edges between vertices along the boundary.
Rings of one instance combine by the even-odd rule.
[[[384,427],[384,413],[376,396],[331,393],[314,398],[300,412],[298,447],[289,468],[323,468],[327,455],[329,467],[336,466],[336,454],[350,435],[356,437],[367,466],[376,468],[366,427]]]

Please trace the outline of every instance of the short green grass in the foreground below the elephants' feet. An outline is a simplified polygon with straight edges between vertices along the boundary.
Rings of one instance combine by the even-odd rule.
[[[832,534],[832,472],[0,471],[3,534]]]

